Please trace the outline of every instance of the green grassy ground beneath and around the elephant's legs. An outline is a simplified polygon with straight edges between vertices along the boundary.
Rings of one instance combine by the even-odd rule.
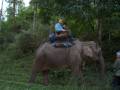
[[[11,59],[6,53],[0,54],[0,90],[110,90],[111,73],[103,81],[93,68],[84,72],[85,83],[80,86],[68,86],[69,72],[59,71],[50,73],[49,86],[43,86],[42,76],[39,74],[36,83],[29,86],[33,55],[21,59]]]

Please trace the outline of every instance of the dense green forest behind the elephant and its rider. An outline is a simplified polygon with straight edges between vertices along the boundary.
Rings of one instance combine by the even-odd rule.
[[[6,64],[4,67],[13,59],[18,67],[25,68],[24,63],[34,57],[41,43],[48,41],[50,26],[61,16],[75,38],[100,44],[106,64],[113,62],[120,50],[119,0],[31,0],[28,7],[23,0],[6,2],[7,15],[0,14],[0,63]],[[3,61],[5,55],[10,61]],[[20,63],[23,58],[26,61]],[[0,70],[5,72],[2,66]]]

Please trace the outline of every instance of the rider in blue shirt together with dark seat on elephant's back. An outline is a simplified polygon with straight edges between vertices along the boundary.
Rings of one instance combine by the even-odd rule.
[[[65,24],[64,18],[58,18],[58,22],[50,26],[49,41],[54,47],[71,47],[74,45],[71,31]]]

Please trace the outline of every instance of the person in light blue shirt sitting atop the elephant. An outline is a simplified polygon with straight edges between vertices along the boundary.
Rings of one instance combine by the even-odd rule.
[[[58,22],[55,24],[55,35],[56,35],[56,41],[65,41],[67,42],[68,46],[72,46],[73,44],[73,38],[70,33],[70,30],[65,24],[64,18],[59,18]],[[64,43],[65,46],[66,43]]]

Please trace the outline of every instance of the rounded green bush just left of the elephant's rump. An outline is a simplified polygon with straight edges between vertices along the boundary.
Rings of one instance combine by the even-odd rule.
[[[15,36],[15,41],[9,45],[7,51],[10,56],[20,58],[33,53],[41,43],[47,41],[47,27],[40,25],[40,29],[22,31]]]

